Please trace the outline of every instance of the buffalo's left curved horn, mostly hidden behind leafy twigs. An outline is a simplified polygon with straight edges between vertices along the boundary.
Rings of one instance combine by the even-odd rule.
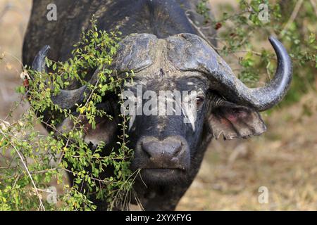
[[[46,72],[46,65],[45,65],[45,58],[47,53],[49,52],[50,47],[44,46],[32,63],[32,70],[36,70],[38,72]],[[94,79],[95,75],[97,75],[99,70],[94,72],[92,75],[92,79]],[[56,96],[51,96],[51,100],[54,104],[58,105],[60,108],[63,109],[70,109],[76,103],[80,103],[84,100],[84,92],[86,91],[87,86],[81,86],[79,89],[74,90],[63,90],[61,89],[60,92]]]

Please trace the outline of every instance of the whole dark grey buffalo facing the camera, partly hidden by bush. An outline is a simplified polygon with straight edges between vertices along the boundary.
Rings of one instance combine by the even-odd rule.
[[[262,134],[266,125],[258,112],[280,102],[290,86],[292,64],[282,44],[274,38],[270,41],[278,56],[275,77],[262,88],[249,89],[242,84],[209,44],[216,44],[211,38],[213,30],[197,30],[203,21],[193,13],[197,1],[55,1],[63,8],[55,24],[42,21],[47,3],[34,1],[23,48],[24,63],[32,64],[35,70],[45,69],[47,53],[54,60],[68,58],[80,30],[87,28],[95,13],[99,29],[120,25],[123,35],[128,35],[120,42],[112,65],[119,75],[135,72],[135,85],[124,89],[135,91],[135,86],[142,84],[144,90],[156,93],[173,89],[199,92],[194,124],[183,123],[184,115],[142,115],[131,124],[130,148],[135,150],[131,169],[142,168],[142,179],[137,178],[134,190],[145,210],[174,210],[192,184],[211,139]],[[50,45],[51,50],[45,45]],[[92,84],[96,80],[94,74],[92,71],[89,76]],[[71,87],[72,90],[55,96],[54,103],[70,109],[80,103],[87,91],[85,86]],[[109,109],[114,120],[100,120],[97,129],[87,131],[83,138],[92,148],[105,141],[111,149],[119,132],[116,99],[107,98],[100,107]],[[68,125],[66,120],[61,127]],[[106,209],[106,203],[97,201],[97,205],[98,210]]]

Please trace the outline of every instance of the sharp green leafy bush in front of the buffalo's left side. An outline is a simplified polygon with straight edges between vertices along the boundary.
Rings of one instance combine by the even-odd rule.
[[[81,122],[85,118],[95,129],[97,117],[112,120],[97,104],[107,92],[120,94],[120,86],[133,76],[131,72],[119,78],[109,69],[118,48],[118,34],[97,30],[96,21],[92,20],[92,29],[82,34],[69,60],[46,59],[51,72],[25,68],[23,76],[31,79],[25,80],[18,91],[31,107],[16,122],[1,120],[0,148],[4,157],[0,158],[0,210],[95,210],[94,201],[89,198],[92,193],[97,200],[106,198],[108,210],[126,207],[125,198],[135,177],[129,170],[132,150],[127,146],[125,133],[128,118],[120,115],[120,141],[109,155],[102,154],[106,143],[99,143],[94,150],[89,148],[82,139],[85,126]],[[96,84],[85,82],[87,71],[96,68]],[[89,89],[85,101],[76,107],[77,114],[59,108],[51,100],[51,96],[74,82],[86,84]],[[45,113],[50,113],[49,122],[44,120]],[[73,128],[58,129],[63,120],[70,120]],[[49,135],[37,131],[35,127],[41,123],[49,127]],[[109,168],[113,168],[113,176],[101,177]],[[68,184],[66,172],[73,174],[73,186]],[[50,188],[53,179],[63,187],[58,204],[50,204],[55,194],[55,189]]]

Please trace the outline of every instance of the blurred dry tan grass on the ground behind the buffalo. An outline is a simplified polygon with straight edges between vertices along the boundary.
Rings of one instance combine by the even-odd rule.
[[[2,15],[8,4],[12,7]],[[0,2],[0,50],[17,58],[30,4],[30,0]],[[20,64],[12,57],[0,63],[1,118],[18,100],[14,89],[20,84],[19,71]],[[311,117],[302,115],[304,104],[312,109]],[[177,210],[317,210],[316,105],[316,94],[309,94],[291,108],[263,115],[268,124],[263,136],[213,141]],[[258,203],[260,186],[268,188],[268,204]]]

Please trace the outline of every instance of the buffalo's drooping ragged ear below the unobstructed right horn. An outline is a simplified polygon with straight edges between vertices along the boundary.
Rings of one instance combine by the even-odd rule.
[[[251,108],[223,101],[211,110],[209,125],[218,139],[248,138],[266,131],[261,115]]]

